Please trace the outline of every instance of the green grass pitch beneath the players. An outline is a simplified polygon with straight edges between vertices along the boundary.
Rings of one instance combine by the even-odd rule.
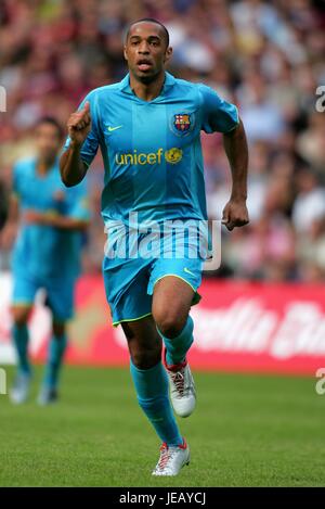
[[[191,465],[157,479],[159,442],[128,369],[67,367],[47,408],[35,403],[40,376],[24,406],[0,395],[0,486],[325,485],[325,395],[313,378],[196,372],[197,409],[179,421]]]

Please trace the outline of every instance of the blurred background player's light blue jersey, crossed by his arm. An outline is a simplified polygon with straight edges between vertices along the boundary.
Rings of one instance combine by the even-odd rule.
[[[13,192],[20,209],[89,220],[87,184],[65,188],[58,160],[47,175],[37,173],[36,158],[18,161],[13,168]],[[24,270],[31,278],[74,279],[80,271],[82,233],[46,225],[24,224],[13,251],[13,271]]]

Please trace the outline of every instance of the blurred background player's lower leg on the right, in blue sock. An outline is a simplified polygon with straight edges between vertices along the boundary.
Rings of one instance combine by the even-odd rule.
[[[66,323],[65,321],[53,318],[52,336],[48,345],[46,372],[42,387],[38,396],[38,403],[40,405],[54,403],[58,397],[57,387],[66,346]]]

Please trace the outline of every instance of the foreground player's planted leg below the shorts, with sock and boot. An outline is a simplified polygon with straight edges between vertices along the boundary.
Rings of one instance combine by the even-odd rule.
[[[162,441],[154,475],[176,475],[190,461],[190,450],[176,422],[168,395],[168,379],[161,364],[161,339],[153,318],[122,322],[128,340],[140,407]]]

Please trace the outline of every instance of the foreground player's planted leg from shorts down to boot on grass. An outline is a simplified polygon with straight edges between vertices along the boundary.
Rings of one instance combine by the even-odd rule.
[[[188,462],[188,447],[178,429],[161,364],[161,339],[152,318],[147,293],[152,262],[141,258],[104,258],[103,276],[115,326],[121,323],[131,357],[131,376],[138,402],[162,441],[154,475],[176,475]]]

